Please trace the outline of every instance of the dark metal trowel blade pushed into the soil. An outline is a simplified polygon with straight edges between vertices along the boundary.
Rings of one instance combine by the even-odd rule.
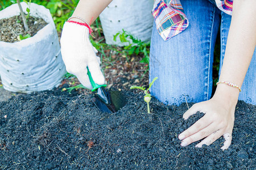
[[[122,93],[120,91],[105,91],[104,96],[109,97],[108,104],[102,100],[102,97],[98,94],[96,94],[93,98],[92,101],[96,105],[96,107],[101,111],[101,112],[106,112],[106,113],[114,113],[119,111],[123,106],[125,106],[126,99],[123,97]]]

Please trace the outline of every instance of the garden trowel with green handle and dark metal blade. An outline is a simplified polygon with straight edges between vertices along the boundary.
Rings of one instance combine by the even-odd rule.
[[[94,97],[92,97],[92,101],[101,112],[114,113],[126,104],[125,97],[122,96],[120,91],[106,91],[106,84],[96,84],[92,79],[88,67],[87,74],[90,79],[90,84],[92,84],[93,87],[92,91],[96,92]]]

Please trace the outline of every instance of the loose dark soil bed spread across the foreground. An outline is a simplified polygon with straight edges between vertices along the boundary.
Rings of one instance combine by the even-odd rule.
[[[63,87],[67,87],[64,84]],[[181,147],[177,135],[198,120],[182,118],[187,104],[168,106],[123,91],[129,101],[100,113],[92,94],[60,90],[14,96],[0,103],[1,169],[255,169],[255,105],[239,101],[233,141]],[[191,103],[188,104],[191,107]]]

